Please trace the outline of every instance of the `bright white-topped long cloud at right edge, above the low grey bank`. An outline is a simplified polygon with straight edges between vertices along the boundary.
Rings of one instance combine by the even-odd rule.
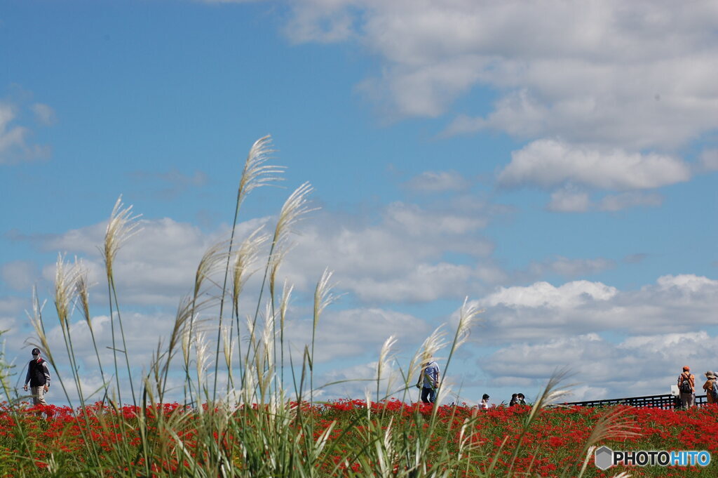
[[[539,341],[601,331],[682,334],[712,324],[718,280],[666,275],[654,285],[625,291],[587,280],[558,287],[536,282],[498,288],[477,304],[486,309],[483,334],[493,341]]]

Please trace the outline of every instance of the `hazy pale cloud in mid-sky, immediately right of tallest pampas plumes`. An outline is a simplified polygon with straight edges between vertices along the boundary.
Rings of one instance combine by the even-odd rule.
[[[506,277],[488,259],[493,243],[481,234],[490,214],[476,203],[429,209],[392,203],[373,224],[321,214],[297,236],[282,271],[302,287],[307,272],[319,277],[329,266],[340,287],[365,302],[462,298]],[[449,261],[446,254],[462,260]]]

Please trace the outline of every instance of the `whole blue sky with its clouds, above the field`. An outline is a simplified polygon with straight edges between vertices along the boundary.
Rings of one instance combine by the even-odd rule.
[[[57,252],[90,265],[106,339],[95,247],[122,194],[143,215],[118,258],[141,368],[228,231],[249,147],[271,134],[285,189],[256,190],[241,230],[312,183],[321,210],[282,272],[296,346],[325,267],[345,294],[325,313],[327,380],[370,376],[391,334],[406,362],[465,297],[485,309],[449,370],[469,403],[530,396],[564,365],[577,399],[625,395],[617,375],[648,395],[684,362],[718,368],[718,9],[681,10],[4,1],[6,354],[24,362],[24,310],[32,285],[50,297]]]

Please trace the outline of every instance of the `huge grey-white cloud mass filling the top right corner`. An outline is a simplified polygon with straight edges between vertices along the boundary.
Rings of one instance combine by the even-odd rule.
[[[536,21],[541,19],[541,21]],[[494,111],[449,132],[674,147],[718,127],[718,60],[709,0],[571,4],[543,0],[304,0],[295,41],[358,40],[383,60],[362,89],[398,115],[437,116],[471,88]]]

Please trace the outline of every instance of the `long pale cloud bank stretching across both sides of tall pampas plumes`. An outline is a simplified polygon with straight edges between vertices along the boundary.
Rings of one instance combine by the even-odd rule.
[[[487,285],[507,280],[507,273],[490,259],[493,243],[483,234],[495,208],[488,203],[459,199],[433,201],[422,207],[395,202],[376,221],[330,212],[314,213],[312,221],[293,236],[292,250],[281,276],[297,290],[314,287],[325,267],[335,271],[342,290],[363,302],[429,302],[475,295]],[[261,218],[238,226],[238,238],[273,219]],[[192,287],[195,268],[208,247],[227,239],[228,230],[205,234],[191,224],[172,219],[141,220],[141,231],[118,253],[115,279],[123,300],[136,305],[172,305]],[[103,282],[106,223],[52,236],[18,236],[50,252],[84,258],[90,280]],[[452,259],[447,258],[447,254]],[[6,266],[10,267],[10,266]],[[17,267],[16,267],[17,268]],[[43,267],[52,282],[55,265]]]

